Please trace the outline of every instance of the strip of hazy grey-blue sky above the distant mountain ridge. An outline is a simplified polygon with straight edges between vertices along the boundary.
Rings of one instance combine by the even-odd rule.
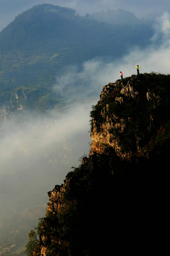
[[[138,17],[148,13],[163,13],[170,10],[169,0],[0,0],[0,30],[6,27],[15,16],[40,3],[51,3],[75,9],[80,15],[101,10],[122,9],[134,12]]]

